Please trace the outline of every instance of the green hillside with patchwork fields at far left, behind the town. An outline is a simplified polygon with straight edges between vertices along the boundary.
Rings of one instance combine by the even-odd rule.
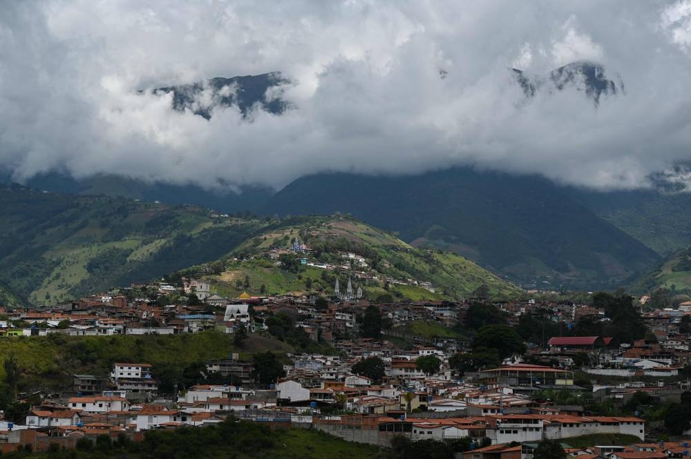
[[[265,225],[196,206],[0,190],[6,304],[55,304],[215,260]]]

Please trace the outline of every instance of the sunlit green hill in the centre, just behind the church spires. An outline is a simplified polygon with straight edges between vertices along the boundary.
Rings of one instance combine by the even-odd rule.
[[[339,269],[299,262],[294,268],[277,266],[276,260],[267,254],[271,249],[290,249],[295,238],[310,248],[309,253],[299,257],[307,259],[308,264],[343,266],[340,273]],[[344,253],[362,257],[366,266],[343,257]],[[472,296],[483,284],[493,297],[522,294],[518,287],[460,255],[415,248],[390,233],[343,216],[296,217],[267,226],[263,233],[240,244],[220,263],[223,273],[211,275],[209,279],[216,291],[231,296],[243,291],[257,295],[286,291],[330,294],[337,277],[341,291],[345,291],[348,272],[354,289],[361,287],[365,296],[372,299],[387,293],[410,300],[456,299]],[[205,271],[209,271],[209,266],[196,266],[184,273]],[[368,279],[359,273],[375,278]],[[434,292],[422,288],[419,285],[422,282],[430,282]]]

